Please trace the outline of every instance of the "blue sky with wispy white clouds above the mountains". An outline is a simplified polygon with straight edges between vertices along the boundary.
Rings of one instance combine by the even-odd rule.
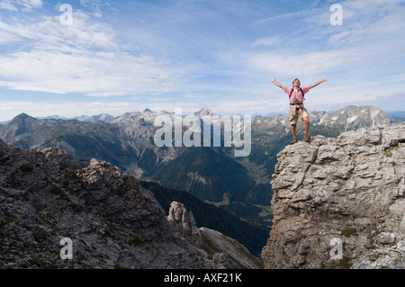
[[[62,4],[72,25],[61,22]],[[332,4],[342,25],[332,25]],[[202,107],[287,112],[405,106],[405,1],[0,0],[0,121]]]

